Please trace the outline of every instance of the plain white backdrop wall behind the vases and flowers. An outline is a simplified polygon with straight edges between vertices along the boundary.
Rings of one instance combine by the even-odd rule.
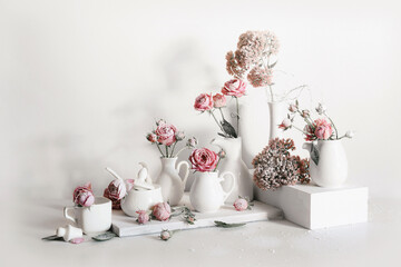
[[[238,36],[264,29],[280,38],[277,68],[356,131],[344,141],[350,180],[399,197],[399,13],[397,1],[0,0],[1,198],[66,198],[87,180],[101,194],[106,166],[133,178],[138,161],[155,177],[155,118],[208,146],[217,129],[194,99],[229,79]],[[248,126],[257,151],[264,92],[250,88],[246,101],[244,117],[263,122]]]

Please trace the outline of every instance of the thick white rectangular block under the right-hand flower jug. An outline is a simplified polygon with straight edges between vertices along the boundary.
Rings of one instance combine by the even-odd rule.
[[[255,198],[281,208],[285,219],[307,229],[368,220],[368,187],[327,189],[315,185],[295,185],[275,191],[255,188]]]

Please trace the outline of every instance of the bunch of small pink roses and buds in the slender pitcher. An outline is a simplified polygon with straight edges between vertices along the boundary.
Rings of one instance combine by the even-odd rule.
[[[153,130],[146,136],[146,139],[155,144],[158,150],[164,158],[175,158],[186,148],[194,148],[197,145],[197,139],[195,137],[189,138],[186,142],[186,146],[182,148],[177,154],[174,154],[174,149],[177,142],[185,139],[184,131],[178,131],[174,125],[167,123],[165,120],[160,119],[156,121],[156,130]],[[162,146],[165,148],[165,152],[162,150]]]

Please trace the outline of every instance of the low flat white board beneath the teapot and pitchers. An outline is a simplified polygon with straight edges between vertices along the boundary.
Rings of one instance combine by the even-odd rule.
[[[184,196],[183,204],[190,208],[187,195]],[[195,225],[187,224],[182,216],[173,217],[169,221],[151,220],[148,224],[139,225],[136,221],[136,218],[126,216],[121,210],[114,210],[113,231],[119,237],[127,237],[158,234],[163,229],[184,230],[199,227],[211,227],[215,225],[215,220],[234,224],[283,219],[283,212],[281,209],[260,201],[254,201],[252,210],[236,211],[232,205],[226,205],[216,212],[199,214],[194,211],[194,214],[196,215]]]

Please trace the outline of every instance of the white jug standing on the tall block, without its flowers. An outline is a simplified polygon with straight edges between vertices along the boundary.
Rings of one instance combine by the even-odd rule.
[[[317,186],[335,188],[344,184],[348,161],[341,140],[305,142],[302,148],[311,154],[311,178]]]

